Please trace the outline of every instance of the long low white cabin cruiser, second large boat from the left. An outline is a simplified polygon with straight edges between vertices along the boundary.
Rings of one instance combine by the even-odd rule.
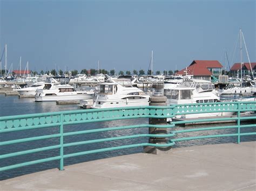
[[[83,100],[91,99],[94,91],[76,91],[74,87],[69,84],[57,85],[53,89],[37,89],[36,102],[43,101],[69,101],[69,100]]]

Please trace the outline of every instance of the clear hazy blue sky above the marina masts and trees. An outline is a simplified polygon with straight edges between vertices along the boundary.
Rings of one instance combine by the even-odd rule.
[[[225,51],[231,66],[240,62],[240,29],[256,62],[255,9],[254,0],[0,0],[0,52],[7,44],[8,69],[18,69],[22,56],[22,69],[29,61],[38,72],[97,69],[98,60],[101,69],[147,71],[152,50],[154,72],[193,60],[228,68]]]

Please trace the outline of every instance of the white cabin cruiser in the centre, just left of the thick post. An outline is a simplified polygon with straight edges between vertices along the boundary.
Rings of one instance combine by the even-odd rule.
[[[126,86],[122,86],[126,84]],[[137,87],[127,86],[120,80],[99,84],[99,93],[95,100],[80,100],[81,108],[116,108],[149,105],[150,95]]]

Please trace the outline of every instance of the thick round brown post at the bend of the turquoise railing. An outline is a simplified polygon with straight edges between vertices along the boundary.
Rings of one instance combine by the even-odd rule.
[[[152,84],[153,95],[150,97],[149,105],[152,106],[166,106],[167,98],[164,96],[164,83],[153,83]],[[166,118],[149,118],[149,124],[151,125],[166,125]],[[166,128],[149,128],[149,134],[167,134]],[[167,138],[164,137],[150,137],[149,143],[153,144],[166,144]],[[171,150],[171,147],[153,147],[145,146],[144,152],[152,154],[163,154]]]

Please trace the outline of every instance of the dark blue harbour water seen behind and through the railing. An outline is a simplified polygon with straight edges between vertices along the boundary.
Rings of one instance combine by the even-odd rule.
[[[10,115],[22,115],[22,114],[34,114],[39,112],[52,112],[52,111],[64,111],[64,110],[76,110],[79,109],[76,104],[71,105],[56,105],[55,102],[35,102],[33,98],[18,98],[17,96],[4,96],[0,94],[0,116],[10,116]],[[135,124],[145,124],[148,122],[148,119],[129,119],[129,120],[119,120],[119,121],[109,121],[109,122],[98,122],[98,123],[90,123],[90,124],[79,124],[79,125],[69,125],[64,126],[64,132],[70,131],[80,131],[80,130],[89,130],[96,128],[107,128],[107,127],[115,127],[115,126],[124,126],[124,125],[135,125]],[[245,122],[246,123],[246,122]],[[212,124],[211,126],[225,126],[226,124]],[[232,124],[228,124],[232,125]],[[234,124],[233,124],[234,125]],[[191,125],[186,126],[185,129],[191,128],[200,128],[207,127],[207,125]],[[174,129],[184,129],[182,126],[176,126]],[[241,132],[253,132],[255,128],[246,128],[241,129]],[[42,129],[34,129],[34,130],[26,130],[26,131],[18,131],[11,133],[1,133],[0,139],[1,141],[12,140],[12,139],[21,139],[27,137],[34,136],[43,136],[50,135],[59,132],[58,127],[52,128],[42,128]],[[100,133],[89,133],[86,135],[76,135],[69,136],[64,138],[65,143],[79,142],[83,140],[91,140],[91,139],[100,139],[107,137],[117,137],[124,135],[133,135],[137,133],[147,133],[147,128],[137,128],[137,129],[127,129],[127,130],[118,130],[118,131],[107,131]],[[216,135],[221,133],[235,133],[235,129],[225,129],[225,130],[212,130],[212,131],[198,131],[198,132],[190,132],[186,134],[179,134],[176,138],[181,136],[202,136],[202,135]],[[241,137],[241,142],[243,141],[255,141],[256,136],[245,136]],[[204,145],[204,144],[218,144],[218,143],[235,143],[237,139],[235,137],[226,137],[226,138],[211,138],[211,139],[200,139],[200,140],[189,140],[186,142],[177,142],[175,147],[181,146],[192,146],[192,145]],[[103,142],[97,143],[94,145],[79,145],[64,148],[64,153],[69,154],[73,152],[80,151],[89,151],[97,148],[105,148],[112,146],[120,146],[120,145],[130,145],[136,143],[146,143],[147,138],[135,138],[135,139],[124,139],[124,140],[116,140],[112,142]],[[34,142],[14,144],[8,146],[0,146],[0,154],[6,154],[10,152],[18,152],[22,150],[30,150],[37,147],[45,147],[51,145],[59,144],[59,138],[52,138],[46,140],[37,140]],[[64,160],[64,165],[77,164],[79,162],[85,162],[90,160],[97,160],[102,158],[115,157],[118,155],[124,154],[132,154],[143,152],[142,147],[129,148],[124,150],[117,151],[109,151],[103,153],[96,154],[87,154],[79,157],[72,157]],[[32,161],[42,158],[48,158],[59,155],[59,149],[43,151],[33,154],[20,155],[18,157],[11,157],[8,159],[0,160],[0,167],[17,164],[19,162]],[[9,171],[4,171],[0,173],[0,180],[13,178],[16,176],[20,176],[23,174],[29,174],[33,172],[43,171],[45,169],[52,169],[59,167],[59,161],[50,161],[37,165],[30,165],[21,168],[11,169]]]

